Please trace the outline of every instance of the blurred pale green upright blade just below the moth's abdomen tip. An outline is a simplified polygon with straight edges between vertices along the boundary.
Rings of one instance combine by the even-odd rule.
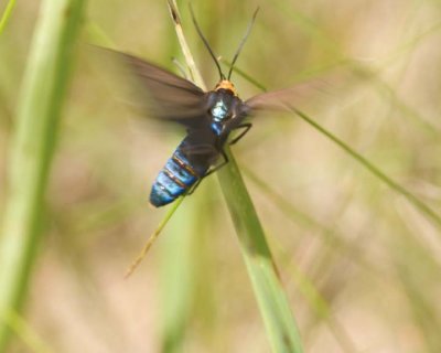
[[[206,253],[204,250],[206,245],[201,242],[200,235],[209,234],[209,232],[197,232],[201,227],[204,229],[206,222],[206,218],[201,220],[202,210],[207,210],[207,199],[203,197],[205,194],[201,194],[204,190],[206,188],[198,188],[197,195],[186,200],[185,207],[181,207],[174,215],[166,237],[162,239],[159,320],[162,353],[178,353],[184,350],[185,339],[192,331],[192,323],[201,315],[196,307],[203,306],[203,301],[211,296],[208,290],[204,290],[204,300],[197,300],[201,288],[198,271],[207,267],[201,256],[201,253]],[[209,284],[204,281],[204,288],[208,287]],[[208,322],[206,324],[209,325]]]

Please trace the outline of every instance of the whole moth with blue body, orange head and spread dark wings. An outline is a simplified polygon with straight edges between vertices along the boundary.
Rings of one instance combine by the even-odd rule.
[[[228,163],[224,148],[226,143],[236,143],[249,131],[252,125],[246,120],[248,117],[258,110],[279,108],[287,97],[292,97],[304,88],[262,93],[246,100],[239,98],[230,76],[257,12],[258,9],[236,50],[228,74],[225,75],[191,9],[196,31],[219,73],[219,81],[208,92],[155,64],[115,52],[150,97],[150,115],[186,129],[186,136],[153,182],[150,192],[150,203],[153,206],[160,207],[183,194],[193,193],[204,178]],[[235,137],[229,139],[232,132],[235,132]]]

